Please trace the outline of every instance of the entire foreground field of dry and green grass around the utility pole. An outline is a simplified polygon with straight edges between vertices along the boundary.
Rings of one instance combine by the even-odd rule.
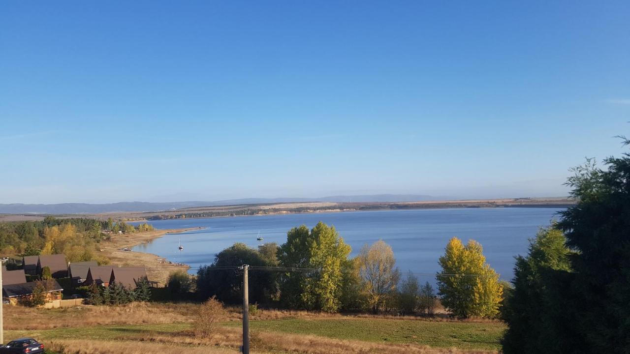
[[[198,304],[50,310],[8,306],[4,338],[34,337],[64,354],[179,354],[190,349],[195,354],[238,353],[238,309],[227,309],[212,338],[195,336],[197,312]],[[250,328],[252,354],[487,354],[498,350],[505,326],[493,321],[261,310]]]

